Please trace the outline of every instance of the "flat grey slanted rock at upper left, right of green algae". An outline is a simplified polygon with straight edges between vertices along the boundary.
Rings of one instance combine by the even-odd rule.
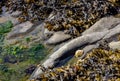
[[[16,25],[10,33],[8,33],[7,38],[13,39],[16,37],[20,37],[23,35],[28,34],[31,32],[35,27],[33,27],[33,24],[29,21],[26,21],[24,23],[21,23],[19,25]]]

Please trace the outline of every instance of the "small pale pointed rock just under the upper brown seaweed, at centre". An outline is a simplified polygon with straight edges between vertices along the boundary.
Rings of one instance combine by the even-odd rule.
[[[55,44],[59,44],[63,41],[66,41],[68,39],[70,39],[71,36],[68,34],[64,34],[64,32],[55,32],[53,34],[53,36],[50,37],[50,39],[48,39],[46,41],[46,44],[48,45],[55,45]]]

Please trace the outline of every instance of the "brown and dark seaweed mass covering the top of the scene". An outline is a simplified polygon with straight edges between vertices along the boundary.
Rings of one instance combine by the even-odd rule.
[[[19,20],[45,21],[52,31],[66,30],[73,36],[89,28],[101,17],[117,14],[119,0],[7,0],[11,12],[22,11]],[[52,18],[48,18],[50,14]]]

